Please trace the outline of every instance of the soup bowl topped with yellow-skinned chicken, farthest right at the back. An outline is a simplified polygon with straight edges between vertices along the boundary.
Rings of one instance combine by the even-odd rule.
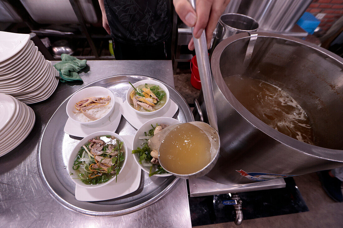
[[[132,112],[153,115],[167,106],[169,91],[163,83],[156,80],[138,81],[126,92],[126,102]]]

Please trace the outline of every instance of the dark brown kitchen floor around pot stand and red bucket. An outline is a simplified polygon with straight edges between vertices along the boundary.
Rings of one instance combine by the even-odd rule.
[[[200,91],[191,86],[190,71],[178,69],[174,81],[176,90],[187,103],[192,104]],[[321,187],[317,174],[295,176],[294,180],[309,209],[308,212],[244,220],[240,227],[343,227],[343,203],[334,202],[328,197]],[[236,227],[236,225],[230,222],[198,227],[222,228]]]

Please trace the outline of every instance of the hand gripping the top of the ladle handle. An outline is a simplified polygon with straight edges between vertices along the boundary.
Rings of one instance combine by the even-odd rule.
[[[180,19],[189,27],[193,27],[195,38],[200,38],[203,30],[206,31],[207,48],[210,49],[213,31],[219,17],[224,12],[230,0],[197,0],[194,11],[188,0],[173,0],[176,13]],[[194,50],[193,38],[188,44],[189,50]]]

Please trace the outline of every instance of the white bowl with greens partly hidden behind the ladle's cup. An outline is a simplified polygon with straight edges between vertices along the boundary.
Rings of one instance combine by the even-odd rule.
[[[155,131],[156,124],[157,126],[166,127],[167,125],[175,125],[180,123],[180,121],[174,118],[157,117],[145,122],[137,130],[132,142],[133,157],[136,163],[143,169],[145,173],[148,173],[149,176],[167,177],[172,175],[170,173],[165,172],[165,170],[162,170],[163,168],[161,167],[161,165],[158,165],[156,159],[154,159],[153,161],[153,163],[155,164],[151,162],[153,160],[153,157],[151,156],[151,154],[149,154],[149,148],[147,148],[149,146],[147,145],[147,142],[149,138],[152,137],[154,132],[157,131]],[[156,157],[156,155],[154,156]],[[158,171],[160,169],[161,171]]]

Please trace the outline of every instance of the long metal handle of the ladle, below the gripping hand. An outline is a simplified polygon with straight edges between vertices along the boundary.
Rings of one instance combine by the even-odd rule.
[[[195,0],[189,0],[194,10],[196,10]],[[192,27],[192,34],[193,34],[193,27]],[[209,119],[209,124],[211,127],[218,131],[218,122],[217,122],[217,114],[215,111],[214,105],[214,97],[213,97],[213,89],[212,89],[212,78],[211,78],[211,69],[210,69],[210,61],[209,55],[207,50],[207,43],[206,43],[206,34],[205,30],[202,32],[199,39],[194,37],[193,34],[193,41],[194,41],[194,49],[197,55],[197,62],[199,68],[199,75],[201,81],[201,88],[202,93],[204,96],[206,112]]]

